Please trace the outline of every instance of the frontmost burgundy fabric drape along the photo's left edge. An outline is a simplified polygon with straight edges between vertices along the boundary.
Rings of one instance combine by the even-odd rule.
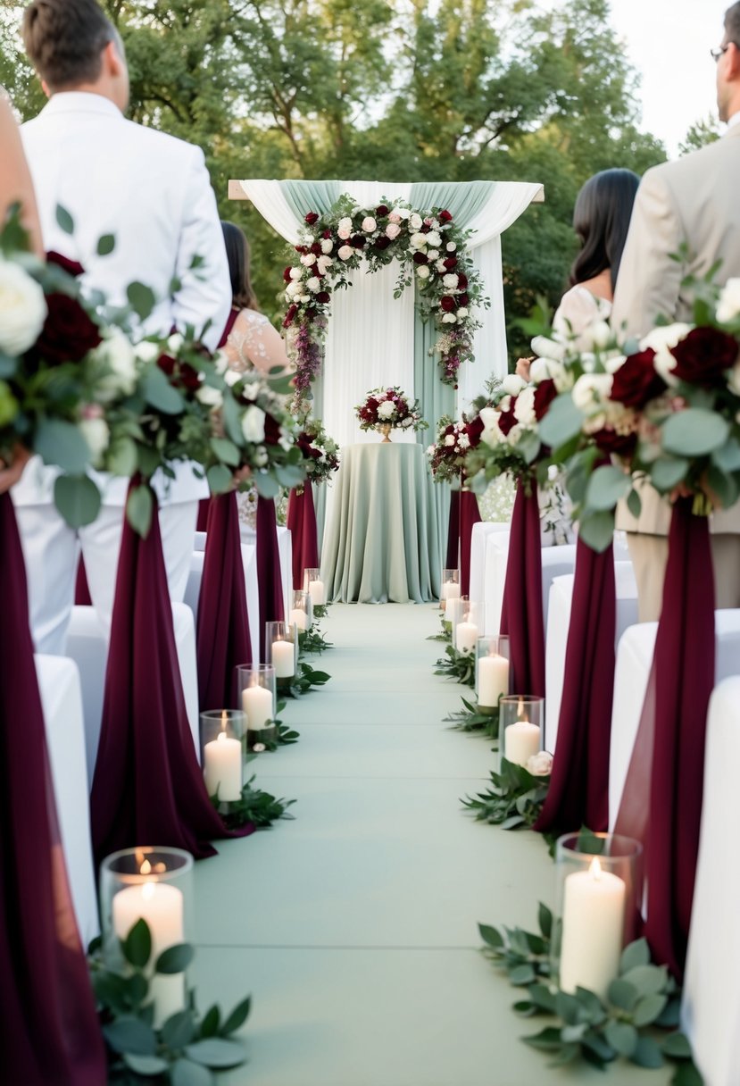
[[[105,1050],[60,841],[10,494],[0,495],[0,1076],[16,1086],[104,1086]]]

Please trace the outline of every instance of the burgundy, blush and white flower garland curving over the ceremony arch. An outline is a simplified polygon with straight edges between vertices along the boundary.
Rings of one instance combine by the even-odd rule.
[[[481,327],[473,308],[490,304],[465,251],[469,237],[446,209],[420,212],[403,200],[368,209],[343,195],[326,215],[309,212],[294,247],[297,263],[283,274],[283,328],[296,366],[296,400],[308,397],[321,368],[332,293],[349,286],[349,272],[362,261],[371,273],[399,262],[395,298],[418,285],[421,314],[434,319],[438,332],[430,354],[439,355],[441,379],[457,387],[458,369],[473,359],[473,333]]]

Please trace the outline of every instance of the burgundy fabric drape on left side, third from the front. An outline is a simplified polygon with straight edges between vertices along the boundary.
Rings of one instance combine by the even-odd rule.
[[[252,662],[237,494],[212,498],[197,605],[201,710],[238,708],[237,667]]]

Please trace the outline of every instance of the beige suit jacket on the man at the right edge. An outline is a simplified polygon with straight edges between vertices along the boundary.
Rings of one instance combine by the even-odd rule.
[[[671,258],[688,247],[684,262]],[[687,275],[701,278],[720,262],[716,281],[740,276],[740,125],[722,139],[649,169],[640,184],[614,293],[612,327],[646,334],[659,316],[690,320]],[[671,507],[652,488],[641,491],[639,518],[626,508],[617,527],[667,534]],[[740,532],[740,503],[712,517],[715,532]]]

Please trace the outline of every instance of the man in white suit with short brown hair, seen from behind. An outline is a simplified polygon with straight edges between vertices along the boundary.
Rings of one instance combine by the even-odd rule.
[[[94,0],[33,0],[24,14],[26,50],[50,98],[23,126],[43,243],[78,261],[86,289],[126,304],[126,287],[152,288],[157,305],[140,329],[167,334],[187,326],[215,348],[231,305],[216,200],[200,148],[126,121],[129,84],[120,38]],[[56,222],[61,205],[72,237]],[[107,256],[98,239],[115,236]],[[202,267],[191,269],[193,257]],[[81,544],[90,594],[110,627],[126,500],[125,480],[107,478],[98,520],[71,530],[52,503],[53,473],[31,460],[13,500],[29,579],[38,652],[63,653]],[[164,480],[163,480],[164,483]],[[180,465],[160,493],[170,594],[181,601],[193,548],[197,501],[207,487]]]

